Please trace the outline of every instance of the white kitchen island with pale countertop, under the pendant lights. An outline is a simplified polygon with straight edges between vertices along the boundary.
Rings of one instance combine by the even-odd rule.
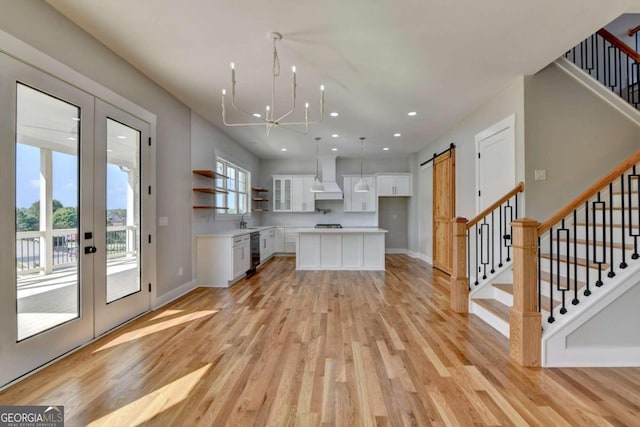
[[[297,230],[296,270],[384,271],[384,238],[376,227]]]

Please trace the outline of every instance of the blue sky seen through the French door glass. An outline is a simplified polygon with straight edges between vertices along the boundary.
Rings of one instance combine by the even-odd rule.
[[[78,205],[77,157],[53,153],[53,198],[65,207]],[[107,165],[107,209],[127,207],[127,174]],[[40,200],[40,150],[16,144],[16,207],[28,208]]]

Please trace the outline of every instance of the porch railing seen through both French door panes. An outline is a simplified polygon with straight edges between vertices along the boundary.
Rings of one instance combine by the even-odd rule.
[[[42,243],[49,235],[51,257],[41,254]],[[106,252],[108,258],[132,255],[137,251],[135,226],[107,227]],[[77,263],[80,248],[75,228],[45,231],[19,231],[16,233],[16,268],[18,274],[51,271]],[[50,262],[51,268],[46,263]]]

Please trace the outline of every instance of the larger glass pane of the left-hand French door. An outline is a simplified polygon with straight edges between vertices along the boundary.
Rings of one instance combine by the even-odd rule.
[[[21,341],[80,315],[80,108],[20,83],[16,89],[16,295]]]

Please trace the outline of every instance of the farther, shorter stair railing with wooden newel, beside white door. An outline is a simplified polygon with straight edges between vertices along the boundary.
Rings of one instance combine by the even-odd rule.
[[[469,311],[469,291],[472,288],[511,264],[510,224],[519,217],[522,206],[519,199],[523,191],[524,183],[520,182],[471,221],[463,217],[452,220],[450,306],[457,313]]]

